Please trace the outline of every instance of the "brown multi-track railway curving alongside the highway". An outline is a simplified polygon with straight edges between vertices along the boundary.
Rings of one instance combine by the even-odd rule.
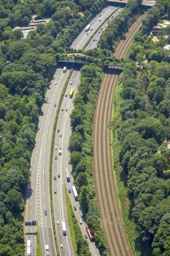
[[[131,26],[126,40],[121,41],[115,49],[116,58],[124,58],[133,41],[134,34],[141,26],[141,20],[145,14]],[[106,125],[112,119],[113,94],[118,82],[121,70],[107,68],[103,81],[100,85],[98,101],[96,105],[93,129],[93,167],[96,186],[96,195],[99,205],[101,225],[108,244],[109,255],[130,256],[132,255],[128,237],[126,236],[120,204],[117,198],[116,180],[113,173],[111,130]]]

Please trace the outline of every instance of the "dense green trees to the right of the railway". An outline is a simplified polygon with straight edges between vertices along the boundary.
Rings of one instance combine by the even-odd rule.
[[[135,245],[139,248],[142,238],[147,255],[155,256],[170,252],[170,64],[164,59],[162,40],[153,43],[147,33],[167,11],[166,2],[158,1],[134,37],[129,58],[138,62],[140,49],[142,66],[139,72],[134,61],[126,61],[118,89],[121,86],[121,101],[115,102],[120,118],[114,121],[119,141],[114,150],[119,150],[121,177],[128,189],[129,216],[140,234]],[[161,58],[152,60],[154,49],[162,52]]]

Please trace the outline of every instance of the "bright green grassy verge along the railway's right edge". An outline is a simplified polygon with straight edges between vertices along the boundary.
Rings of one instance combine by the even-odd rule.
[[[136,241],[139,238],[140,234],[136,230],[135,223],[130,219],[129,216],[129,208],[130,201],[128,198],[128,189],[125,187],[124,182],[127,177],[122,177],[122,167],[119,162],[119,153],[121,150],[121,143],[117,139],[117,131],[118,126],[121,124],[121,114],[120,114],[120,106],[121,106],[121,92],[122,86],[118,84],[114,93],[114,117],[113,117],[113,162],[114,162],[114,172],[116,177],[116,185],[118,191],[118,198],[121,203],[121,212],[124,221],[124,227],[126,234],[128,235],[129,242],[135,256],[141,255],[141,252],[136,247]],[[148,254],[146,254],[148,255]]]

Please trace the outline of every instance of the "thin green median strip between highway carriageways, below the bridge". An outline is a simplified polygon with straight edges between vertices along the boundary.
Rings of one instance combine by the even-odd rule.
[[[49,162],[49,188],[50,188],[50,209],[52,214],[52,225],[53,225],[53,234],[54,234],[54,241],[56,246],[56,253],[57,256],[60,256],[60,251],[58,248],[58,242],[57,242],[57,235],[56,235],[56,228],[55,228],[55,219],[54,219],[54,208],[53,208],[53,191],[52,191],[52,165],[53,165],[53,152],[54,152],[54,140],[55,140],[55,133],[56,133],[56,127],[57,127],[57,121],[58,121],[58,115],[60,113],[60,108],[62,105],[63,97],[67,88],[67,85],[69,83],[69,80],[73,74],[73,69],[70,70],[69,75],[65,81],[60,100],[58,102],[57,112],[55,116],[54,126],[53,126],[53,135],[52,135],[52,144],[50,149],[50,162]]]

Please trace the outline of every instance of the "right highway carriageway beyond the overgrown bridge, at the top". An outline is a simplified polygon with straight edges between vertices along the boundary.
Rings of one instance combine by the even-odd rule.
[[[97,42],[98,39],[100,38],[101,33],[106,29],[106,26],[108,24],[109,21],[113,20],[118,14],[120,14],[120,11],[122,11],[123,8],[118,9],[112,16],[111,18],[109,18],[104,25],[102,26],[102,29],[100,28],[97,33],[95,34],[95,36],[91,39],[90,43],[88,44],[88,46],[86,47],[86,51],[90,50],[90,49],[95,49],[97,48]],[[100,33],[99,33],[100,31]],[[96,41],[95,41],[96,40]]]

